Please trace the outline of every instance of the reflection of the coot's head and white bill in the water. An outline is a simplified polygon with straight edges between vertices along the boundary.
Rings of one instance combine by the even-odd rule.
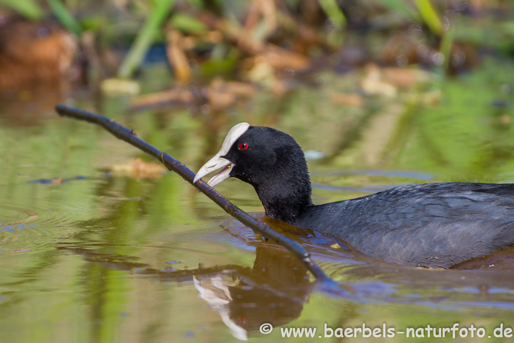
[[[232,280],[227,278],[230,276]],[[193,275],[193,282],[200,298],[219,313],[232,335],[242,340],[263,323],[279,327],[298,318],[312,289],[303,265],[273,247],[258,247],[251,269]]]

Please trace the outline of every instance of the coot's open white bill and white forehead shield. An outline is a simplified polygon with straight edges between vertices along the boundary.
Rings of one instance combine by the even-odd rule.
[[[223,141],[221,149],[219,149],[218,153],[214,155],[214,157],[212,157],[205,165],[203,165],[200,170],[198,170],[194,177],[193,183],[196,183],[200,178],[220,168],[223,169],[209,180],[209,186],[214,187],[224,179],[230,177],[229,174],[234,164],[222,156],[225,156],[229,152],[234,142],[239,139],[239,137],[241,137],[249,127],[250,124],[248,123],[239,123],[230,129],[227,137],[225,137],[225,140]]]

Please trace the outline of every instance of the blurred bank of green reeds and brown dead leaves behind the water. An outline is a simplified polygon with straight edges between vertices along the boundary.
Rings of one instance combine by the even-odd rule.
[[[0,0],[0,61],[75,66],[72,79],[100,84],[167,60],[174,84],[222,76],[283,91],[291,72],[370,62],[465,73],[485,55],[514,56],[512,18],[506,0]],[[2,72],[0,85],[50,74]],[[131,91],[104,86],[122,85]]]

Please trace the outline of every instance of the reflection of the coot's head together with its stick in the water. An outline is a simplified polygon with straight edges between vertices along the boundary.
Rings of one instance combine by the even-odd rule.
[[[135,262],[134,257],[102,254],[90,247],[64,244],[60,249],[71,250],[83,255],[86,261],[109,268],[155,275],[163,282],[192,281],[199,297],[221,316],[232,335],[241,340],[258,336],[255,331],[263,323],[280,327],[298,318],[314,288],[302,263],[277,245],[257,247],[252,268],[230,264],[176,270],[150,268],[148,264]]]

